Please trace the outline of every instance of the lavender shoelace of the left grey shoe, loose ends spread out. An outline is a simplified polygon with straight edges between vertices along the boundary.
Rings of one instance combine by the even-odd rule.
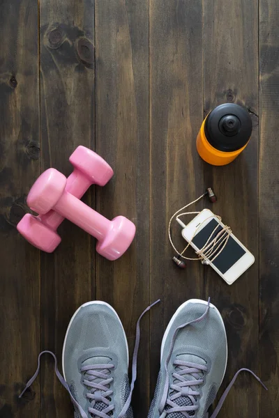
[[[160,302],[160,299],[156,300],[156,302],[153,302],[153,304],[151,304],[149,307],[147,307],[142,312],[140,318],[137,320],[135,348],[134,348],[134,353],[133,353],[133,364],[132,364],[132,380],[131,380],[131,384],[130,384],[130,394],[129,394],[129,396],[127,398],[127,401],[126,401],[125,405],[123,406],[123,408],[122,408],[122,410],[121,410],[121,412],[120,412],[120,414],[117,418],[123,418],[125,416],[128,408],[130,407],[130,402],[131,402],[131,399],[132,399],[133,389],[135,387],[135,380],[137,379],[137,353],[139,351],[139,346],[140,346],[140,320],[142,319],[142,316],[144,316],[144,314],[146,314],[146,312],[149,311],[149,309],[151,309],[158,302]],[[24,388],[24,390],[22,391],[22,393],[20,394],[19,397],[21,398],[22,395],[24,394],[24,392],[26,392],[27,388],[32,385],[34,380],[36,380],[36,378],[38,376],[38,373],[40,371],[40,358],[42,357],[43,354],[52,355],[52,357],[54,358],[54,370],[55,370],[57,378],[59,378],[59,381],[61,382],[63,387],[65,387],[65,389],[70,394],[70,398],[71,398],[73,404],[75,405],[75,407],[77,408],[77,410],[80,412],[80,416],[82,418],[88,418],[88,414],[82,409],[80,404],[77,403],[73,394],[70,392],[70,387],[68,386],[68,383],[66,382],[66,380],[64,380],[63,376],[59,372],[58,367],[57,367],[56,355],[54,355],[54,353],[52,353],[51,351],[48,351],[48,350],[42,351],[42,353],[40,353],[40,355],[38,356],[37,370],[33,374],[33,376],[31,377],[29,382],[27,382],[26,387]],[[95,402],[96,401],[104,402],[107,405],[107,408],[105,408],[105,410],[103,410],[103,411],[98,411],[94,408],[89,408],[89,414],[91,415],[91,417],[93,416],[93,417],[100,417],[100,418],[110,418],[110,415],[107,415],[107,414],[110,413],[110,411],[114,410],[114,405],[113,404],[110,405],[110,396],[112,395],[113,391],[108,390],[108,385],[110,385],[112,383],[112,380],[113,380],[112,378],[108,378],[108,373],[113,368],[114,368],[113,364],[94,364],[94,365],[84,366],[81,369],[82,373],[86,373],[88,375],[88,377],[86,377],[86,379],[84,379],[84,381],[83,381],[84,385],[86,387],[91,387],[92,388],[90,390],[90,392],[86,394],[86,397],[92,399]],[[96,383],[96,382],[93,382],[93,380],[95,380],[95,378],[102,378],[103,380],[100,381],[99,383]]]

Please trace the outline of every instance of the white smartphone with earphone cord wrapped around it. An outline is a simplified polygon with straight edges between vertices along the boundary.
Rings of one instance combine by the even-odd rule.
[[[209,209],[204,209],[200,212],[185,228],[182,230],[183,238],[190,242],[191,247],[196,251],[201,249],[206,241],[209,239],[213,230],[220,224],[219,228],[213,234],[212,238],[225,225],[218,220],[218,218]],[[232,234],[225,245],[223,251],[213,262],[206,260],[211,267],[220,274],[220,276],[227,282],[232,284],[236,279],[245,272],[252,263],[255,257],[248,251],[246,247]]]

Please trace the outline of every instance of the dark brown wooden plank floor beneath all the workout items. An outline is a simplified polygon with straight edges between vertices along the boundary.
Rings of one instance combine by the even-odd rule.
[[[137,317],[160,297],[142,321],[133,396],[135,417],[146,417],[169,318],[185,300],[209,295],[229,342],[218,397],[243,366],[269,388],[240,376],[218,417],[278,416],[278,20],[278,0],[0,2],[1,418],[73,416],[49,358],[27,395],[17,396],[40,350],[54,350],[61,367],[66,327],[80,304],[112,304],[132,351]],[[246,107],[254,130],[234,163],[214,168],[199,159],[195,137],[223,102]],[[68,175],[80,144],[115,171],[84,201],[137,224],[119,261],[98,256],[94,240],[67,221],[54,254],[15,229],[33,181],[49,167]],[[218,195],[215,212],[256,258],[230,287],[200,263],[181,271],[171,261],[170,215],[209,186]]]

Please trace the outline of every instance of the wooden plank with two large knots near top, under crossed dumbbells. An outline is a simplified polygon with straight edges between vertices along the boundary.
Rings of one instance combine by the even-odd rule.
[[[40,1],[42,169],[72,171],[70,154],[94,148],[94,1]],[[84,201],[94,206],[93,187]],[[70,222],[59,227],[62,242],[42,253],[41,348],[61,351],[68,322],[80,304],[94,298],[94,245]],[[73,407],[53,373],[41,373],[41,417],[69,417]]]

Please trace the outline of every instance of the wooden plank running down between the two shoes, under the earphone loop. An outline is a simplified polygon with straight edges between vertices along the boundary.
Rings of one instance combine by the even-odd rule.
[[[202,1],[150,1],[151,300],[162,300],[151,312],[151,396],[169,319],[182,302],[204,297],[202,265],[177,268],[167,238],[172,214],[204,192],[204,164],[195,149],[203,118],[202,33]],[[174,241],[183,249],[180,231],[174,224]]]

